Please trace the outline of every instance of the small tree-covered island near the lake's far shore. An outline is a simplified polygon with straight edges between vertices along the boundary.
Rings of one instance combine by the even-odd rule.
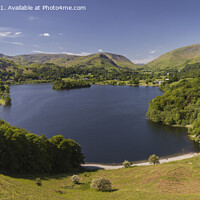
[[[87,81],[64,81],[64,80],[57,80],[53,83],[54,90],[67,90],[67,89],[75,89],[75,88],[86,88],[90,87],[91,85]]]

